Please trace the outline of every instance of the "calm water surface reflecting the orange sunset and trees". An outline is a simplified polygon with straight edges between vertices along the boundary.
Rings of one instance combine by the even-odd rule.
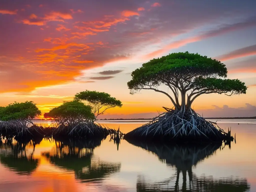
[[[145,122],[100,123],[127,133]],[[80,143],[43,140],[35,146],[3,143],[0,191],[256,191],[255,123],[219,122],[236,133],[230,146],[155,146],[125,140],[117,145],[109,137]]]

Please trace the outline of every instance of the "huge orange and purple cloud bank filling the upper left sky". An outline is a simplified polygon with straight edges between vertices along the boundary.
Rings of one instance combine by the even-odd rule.
[[[61,3],[45,0],[43,4],[31,0],[1,2],[0,25],[5,27],[0,30],[0,81],[4,82],[0,92],[29,92],[76,81],[82,71],[106,63],[130,58],[137,63],[143,57],[137,55],[140,51],[153,52],[147,57],[161,56],[165,50],[255,26],[251,18],[221,25],[217,30],[190,33],[215,26],[220,20],[230,23],[245,14],[255,15],[255,1],[251,1],[250,7],[238,0],[232,4],[220,0],[204,4],[199,0],[186,4],[104,2],[92,1],[86,5],[70,0]],[[143,11],[148,9],[151,10]],[[179,35],[187,38],[156,50],[161,42]],[[218,48],[214,46],[213,50]],[[127,64],[129,71],[134,70],[135,63]]]

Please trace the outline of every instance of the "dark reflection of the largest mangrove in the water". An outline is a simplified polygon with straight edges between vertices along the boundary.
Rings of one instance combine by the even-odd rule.
[[[192,167],[205,158],[213,155],[218,149],[222,150],[222,144],[204,144],[197,146],[186,145],[157,145],[153,143],[129,141],[157,155],[159,160],[168,166],[176,167],[176,174],[170,178],[150,183],[143,176],[138,176],[137,191],[249,191],[250,185],[245,178],[228,177],[213,178],[212,176],[197,176],[192,172]],[[230,147],[230,143],[228,144]],[[225,146],[225,145],[224,145]],[[180,173],[182,173],[182,186],[179,186]],[[187,173],[189,181],[187,181]]]

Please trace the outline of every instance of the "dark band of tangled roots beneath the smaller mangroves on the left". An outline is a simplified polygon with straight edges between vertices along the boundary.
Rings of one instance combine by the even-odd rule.
[[[115,134],[116,130],[102,127],[96,123],[58,124],[55,127],[42,127],[37,124],[28,124],[22,121],[0,122],[0,137],[15,138],[15,140],[40,140],[44,137],[54,138],[104,138]]]

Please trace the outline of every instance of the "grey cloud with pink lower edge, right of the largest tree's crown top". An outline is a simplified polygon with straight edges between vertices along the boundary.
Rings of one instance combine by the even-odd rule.
[[[251,56],[251,55],[256,55],[256,45],[252,45],[252,46],[234,50],[228,54],[219,56],[218,59],[220,61],[226,61],[229,59],[236,59],[239,57],[246,57],[246,56]]]

